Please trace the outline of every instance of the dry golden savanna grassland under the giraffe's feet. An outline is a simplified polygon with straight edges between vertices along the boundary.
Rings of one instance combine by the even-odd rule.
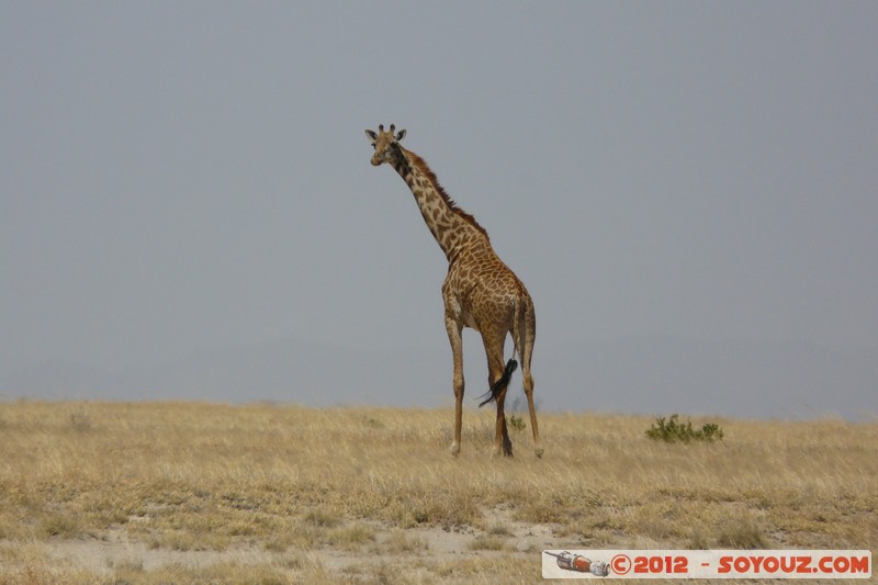
[[[878,421],[0,404],[0,583],[534,583],[543,549],[878,544]],[[699,423],[699,419],[693,419]]]

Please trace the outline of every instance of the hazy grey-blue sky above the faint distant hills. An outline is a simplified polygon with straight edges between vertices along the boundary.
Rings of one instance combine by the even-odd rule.
[[[873,1],[4,1],[0,378],[295,338],[435,349],[450,394],[382,123],[527,284],[534,373],[583,340],[876,352],[877,30]]]

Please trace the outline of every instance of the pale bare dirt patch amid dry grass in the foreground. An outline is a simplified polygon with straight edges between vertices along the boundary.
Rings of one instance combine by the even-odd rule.
[[[209,567],[223,565],[238,566],[245,572],[248,567],[286,567],[290,571],[279,571],[279,576],[285,573],[292,578],[311,565],[325,572],[330,581],[372,581],[375,573],[394,566],[398,570],[399,582],[406,582],[405,575],[412,574],[412,567],[421,581],[439,580],[452,576],[442,575],[443,571],[449,572],[442,567],[463,564],[466,560],[508,562],[515,559],[539,567],[541,551],[556,548],[560,542],[554,536],[556,527],[516,521],[508,509],[486,511],[485,521],[485,530],[472,527],[402,529],[373,524],[368,542],[362,547],[325,545],[309,551],[272,551],[259,543],[235,543],[222,551],[154,548],[133,540],[124,527],[75,539],[50,538],[33,545],[42,549],[48,565],[92,573],[108,581],[120,574],[135,577],[181,572],[198,575]],[[476,575],[461,575],[461,581],[474,577]]]

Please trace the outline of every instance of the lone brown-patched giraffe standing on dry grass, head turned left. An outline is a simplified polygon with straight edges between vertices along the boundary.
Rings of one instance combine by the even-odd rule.
[[[506,428],[504,403],[509,379],[518,363],[510,359],[504,365],[506,336],[511,334],[514,350],[521,360],[525,395],[533,431],[533,452],[542,457],[543,448],[533,407],[533,376],[530,359],[533,351],[537,319],[533,301],[518,277],[497,257],[487,232],[475,218],[458,206],[446,193],[427,162],[399,144],[405,130],[365,131],[375,149],[372,165],[389,162],[406,182],[420,209],[424,221],[448,259],[448,275],[442,284],[444,325],[453,355],[454,440],[451,454],[460,452],[463,415],[463,341],[464,327],[479,331],[487,356],[487,400],[497,405],[494,455],[513,455],[513,443]]]

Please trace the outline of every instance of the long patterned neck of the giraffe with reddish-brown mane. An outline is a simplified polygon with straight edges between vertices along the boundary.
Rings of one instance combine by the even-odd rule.
[[[427,227],[449,262],[464,247],[488,243],[487,232],[448,196],[423,158],[397,144],[393,168],[415,195]]]

